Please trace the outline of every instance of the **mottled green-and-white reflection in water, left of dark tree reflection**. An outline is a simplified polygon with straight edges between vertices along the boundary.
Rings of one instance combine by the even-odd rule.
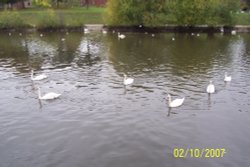
[[[0,58],[14,59],[13,66],[25,66],[26,71],[27,67],[38,70],[43,66],[60,68],[72,63],[80,67],[92,66],[101,60],[98,55],[100,39],[96,37],[82,37],[79,33],[45,33],[43,37],[38,33],[3,35],[0,38]]]

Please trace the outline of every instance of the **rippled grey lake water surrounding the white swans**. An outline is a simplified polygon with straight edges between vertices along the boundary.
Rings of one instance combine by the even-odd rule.
[[[249,166],[249,34],[1,33],[0,81],[1,167]],[[38,86],[62,96],[39,101]],[[184,104],[170,110],[168,93]]]

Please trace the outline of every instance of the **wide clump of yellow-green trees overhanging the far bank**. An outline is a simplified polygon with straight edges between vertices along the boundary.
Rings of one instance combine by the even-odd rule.
[[[105,20],[110,25],[231,25],[239,7],[239,0],[109,0]]]

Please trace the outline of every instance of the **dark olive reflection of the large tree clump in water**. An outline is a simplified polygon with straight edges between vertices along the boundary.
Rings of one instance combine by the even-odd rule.
[[[172,41],[172,37],[175,41]],[[109,38],[109,59],[117,71],[141,72],[168,66],[173,73],[193,71],[194,67],[206,72],[215,59],[221,59],[230,40],[220,34],[200,37],[190,34],[128,35],[124,40]],[[230,62],[223,61],[223,63]]]

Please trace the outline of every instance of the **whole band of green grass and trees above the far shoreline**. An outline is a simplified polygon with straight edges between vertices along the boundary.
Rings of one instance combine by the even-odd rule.
[[[14,3],[20,0],[0,0]],[[80,7],[82,0],[33,0],[34,7],[0,10],[0,28],[63,28],[107,25],[250,25],[250,0],[109,0],[107,7]],[[84,1],[85,5],[87,1]],[[78,7],[76,7],[78,6]],[[240,11],[244,9],[245,12]],[[103,17],[104,16],[104,17]]]

